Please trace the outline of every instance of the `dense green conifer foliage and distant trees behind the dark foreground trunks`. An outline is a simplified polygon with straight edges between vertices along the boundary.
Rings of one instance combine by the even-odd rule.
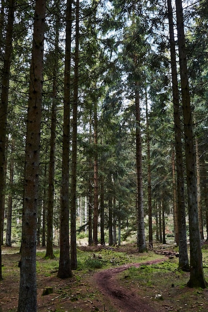
[[[97,157],[97,192],[99,211],[104,210],[104,220],[102,220],[104,228],[107,229],[111,225],[115,230],[115,227],[119,226],[119,229],[125,229],[125,233],[129,234],[136,230],[134,103],[136,76],[140,93],[144,210],[145,215],[148,215],[148,186],[150,186],[148,166],[150,166],[154,235],[162,241],[161,231],[158,230],[157,225],[161,229],[161,222],[166,223],[166,219],[162,219],[174,213],[176,203],[174,117],[167,8],[159,1],[152,2],[141,1],[136,4],[125,1],[118,4],[108,1],[81,1],[80,3],[76,216],[80,227],[82,226],[80,230],[86,230],[90,205],[93,209],[94,159]],[[51,144],[55,149],[53,226],[56,242],[59,236],[65,49],[65,3],[58,2],[54,5],[49,1],[47,5],[37,236],[37,243],[43,245],[47,228]],[[202,9],[203,5],[205,4],[202,1],[188,3],[184,1],[191,101],[199,158],[198,191],[201,195],[200,203],[203,211],[202,226],[205,227],[208,200],[206,195],[207,11]],[[1,20],[4,22],[1,23],[1,68],[5,52],[8,9],[8,2],[2,2]],[[5,242],[6,224],[10,222],[12,207],[11,241],[13,243],[21,239],[32,9],[32,3],[21,1],[16,2],[14,7],[7,113],[3,238]],[[173,7],[173,12],[174,10]],[[74,14],[75,8],[72,10],[70,142],[73,132],[73,92],[76,83]],[[52,129],[52,122],[55,122],[55,130]],[[55,141],[51,143],[53,131],[55,131]],[[71,159],[72,143],[70,146],[69,158]],[[70,170],[69,181],[71,175]],[[71,185],[69,187],[71,188]],[[8,227],[7,232],[9,232]],[[10,245],[11,242],[9,238],[7,239],[6,244]],[[125,236],[119,239],[125,240]],[[117,243],[116,235],[113,243]]]

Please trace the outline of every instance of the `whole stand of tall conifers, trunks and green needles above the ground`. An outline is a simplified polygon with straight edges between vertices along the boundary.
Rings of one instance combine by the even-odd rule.
[[[36,247],[60,247],[66,279],[79,238],[144,253],[173,237],[187,285],[207,287],[207,63],[207,0],[1,0],[0,248],[21,246],[18,312],[37,311]]]

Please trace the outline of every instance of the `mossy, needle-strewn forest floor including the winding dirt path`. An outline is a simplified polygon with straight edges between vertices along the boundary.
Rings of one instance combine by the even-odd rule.
[[[107,269],[85,267],[73,271],[73,278],[61,280],[56,276],[58,259],[44,259],[45,249],[38,248],[37,251],[38,312],[208,311],[208,289],[190,289],[184,286],[189,280],[189,273],[179,274],[177,270],[168,269],[169,272],[159,270],[159,267],[155,273],[153,269],[149,269],[156,268],[161,262],[167,262],[172,267],[176,265],[175,259],[165,257],[164,261],[164,255],[154,255],[151,252],[144,256],[129,248],[128,263],[120,265],[119,261],[112,262]],[[92,249],[88,251],[87,247],[81,252],[85,257],[86,254],[87,257],[92,255]],[[107,258],[107,253],[98,252],[103,259],[105,255]],[[0,311],[17,311],[19,260],[17,248],[2,247],[4,279],[0,282]],[[140,270],[139,278],[137,267],[143,269]],[[205,276],[208,280],[208,271]],[[50,288],[52,293],[43,296],[46,288]]]

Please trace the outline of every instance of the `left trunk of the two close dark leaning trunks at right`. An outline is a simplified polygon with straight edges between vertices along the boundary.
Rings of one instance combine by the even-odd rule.
[[[178,208],[178,228],[179,228],[179,269],[188,271],[189,258],[187,250],[186,233],[186,208],[184,195],[184,168],[182,151],[182,123],[179,103],[178,73],[176,62],[176,43],[174,38],[174,23],[172,2],[168,0],[169,34],[171,47],[171,71],[172,71],[172,92],[174,103],[174,129],[175,129],[175,149],[176,149],[176,171],[177,171],[177,208]]]

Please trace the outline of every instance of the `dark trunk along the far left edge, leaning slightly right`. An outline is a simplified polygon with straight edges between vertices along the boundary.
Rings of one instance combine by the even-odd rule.
[[[3,68],[1,73],[1,94],[0,94],[0,280],[2,280],[1,272],[1,245],[3,233],[3,215],[4,215],[4,186],[5,186],[5,143],[6,143],[6,120],[8,107],[8,89],[9,74],[12,53],[12,34],[14,21],[14,0],[8,1],[8,17],[5,39],[5,53],[3,56]]]

